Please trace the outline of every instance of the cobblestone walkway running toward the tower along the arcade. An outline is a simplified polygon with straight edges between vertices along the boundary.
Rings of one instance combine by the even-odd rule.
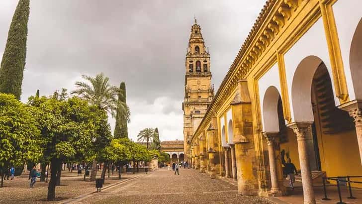
[[[122,204],[265,204],[258,197],[239,196],[237,187],[210,179],[197,170],[181,169],[180,176],[160,169],[79,203]]]

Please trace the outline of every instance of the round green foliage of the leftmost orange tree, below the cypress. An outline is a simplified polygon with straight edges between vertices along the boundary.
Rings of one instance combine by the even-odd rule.
[[[33,117],[34,108],[13,95],[0,94],[0,168],[21,166],[41,157],[40,131]]]

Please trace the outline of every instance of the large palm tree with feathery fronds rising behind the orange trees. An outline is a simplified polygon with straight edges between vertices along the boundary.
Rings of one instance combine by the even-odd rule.
[[[84,100],[87,100],[90,104],[109,112],[112,117],[115,117],[117,113],[120,117],[129,121],[129,107],[125,102],[118,100],[118,96],[122,96],[122,92],[119,88],[109,85],[108,77],[105,77],[103,73],[97,74],[95,78],[87,75],[82,75],[82,77],[90,84],[86,82],[76,82],[77,90],[71,92],[71,94],[76,94]],[[95,180],[96,163],[97,162],[93,160],[90,181]]]

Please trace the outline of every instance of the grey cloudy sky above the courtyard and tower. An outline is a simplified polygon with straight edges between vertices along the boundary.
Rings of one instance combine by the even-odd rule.
[[[40,90],[75,89],[103,72],[126,83],[129,137],[158,127],[183,139],[184,60],[193,18],[201,26],[218,88],[265,0],[30,0],[21,101]],[[17,0],[0,0],[0,57]],[[109,120],[112,129],[114,120]]]

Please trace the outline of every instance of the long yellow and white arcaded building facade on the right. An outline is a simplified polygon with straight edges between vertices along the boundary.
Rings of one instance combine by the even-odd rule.
[[[192,127],[193,167],[234,178],[241,195],[284,196],[282,167],[291,159],[306,204],[315,203],[315,178],[359,175],[361,7],[361,0],[268,0]]]

